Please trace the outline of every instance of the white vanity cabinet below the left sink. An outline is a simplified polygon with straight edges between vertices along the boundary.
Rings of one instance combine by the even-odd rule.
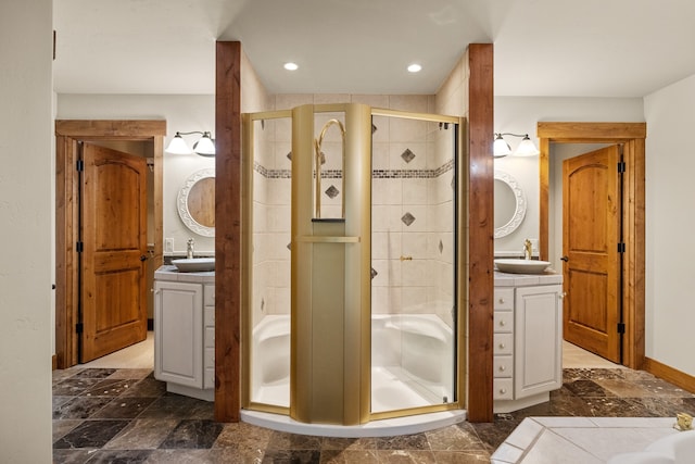
[[[167,391],[213,401],[215,387],[214,273],[154,276],[154,377]]]

